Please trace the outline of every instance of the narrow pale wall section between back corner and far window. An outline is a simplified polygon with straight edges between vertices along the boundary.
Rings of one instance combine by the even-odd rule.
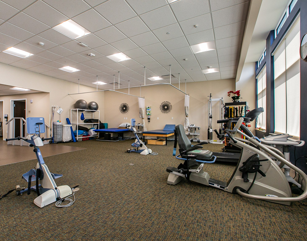
[[[255,63],[245,63],[239,81],[235,83],[236,90],[241,90],[241,101],[247,101],[249,109],[256,108]],[[250,130],[255,134],[255,121]]]

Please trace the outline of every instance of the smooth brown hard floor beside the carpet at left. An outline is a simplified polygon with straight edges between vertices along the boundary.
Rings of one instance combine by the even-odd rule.
[[[84,148],[58,144],[46,144],[40,147],[43,157],[82,149]],[[32,159],[36,159],[33,147],[7,145],[6,141],[0,140],[0,166]]]

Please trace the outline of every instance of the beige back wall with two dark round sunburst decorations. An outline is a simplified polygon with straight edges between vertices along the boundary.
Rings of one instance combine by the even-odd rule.
[[[175,85],[178,88],[178,85]],[[181,90],[185,91],[184,84],[181,85]],[[229,102],[231,99],[227,97],[227,91],[234,90],[235,80],[224,79],[215,81],[203,81],[187,83],[187,94],[190,95],[190,124],[196,124],[201,127],[200,139],[207,140],[208,129],[208,100],[210,93],[212,98],[221,98],[224,102]],[[127,89],[120,90],[128,93]],[[140,96],[140,88],[130,88],[130,94]],[[185,121],[184,102],[185,94],[176,90],[169,85],[157,85],[142,87],[142,97],[145,97],[145,105],[151,106],[151,120],[146,121],[147,130],[163,129],[165,124],[183,124]],[[161,113],[160,104],[163,101],[169,101],[172,105],[170,113]],[[119,111],[121,103],[129,105],[129,112],[122,114]],[[215,110],[215,109],[214,109]],[[213,117],[213,128],[219,128],[216,121],[220,118],[218,112]],[[218,115],[218,116],[217,116]],[[127,120],[124,120],[127,117]],[[159,119],[157,119],[159,117]],[[172,119],[173,117],[173,119]],[[130,122],[131,118],[135,118],[136,122],[141,122],[139,118],[138,98],[120,93],[107,91],[105,93],[105,122],[108,127],[116,128],[122,122]],[[216,139],[216,135],[213,135]]]

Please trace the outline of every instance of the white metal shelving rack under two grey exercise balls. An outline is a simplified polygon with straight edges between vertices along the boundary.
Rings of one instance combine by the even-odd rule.
[[[84,122],[80,122],[80,117],[81,117],[81,113],[84,112],[84,118],[85,119],[98,119],[100,120],[100,110],[85,110],[85,109],[70,109],[70,121],[72,122],[71,124],[73,125],[77,125],[77,136],[76,136],[76,139],[80,139],[80,138],[83,138],[83,137],[79,137],[78,136],[78,130],[79,130],[79,125],[91,125],[91,127],[94,127],[95,124],[98,124],[98,128],[99,128],[99,123],[84,123]],[[75,113],[75,114],[74,114]],[[98,114],[98,118],[94,118],[95,116],[97,117],[97,114]],[[89,117],[90,116],[90,117]],[[74,121],[76,120],[76,122]],[[94,137],[94,136],[98,136],[97,134],[96,135],[93,135],[91,137]]]

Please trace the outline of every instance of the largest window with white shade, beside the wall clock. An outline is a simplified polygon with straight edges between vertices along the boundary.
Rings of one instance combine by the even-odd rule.
[[[274,52],[275,132],[300,136],[300,17]]]

